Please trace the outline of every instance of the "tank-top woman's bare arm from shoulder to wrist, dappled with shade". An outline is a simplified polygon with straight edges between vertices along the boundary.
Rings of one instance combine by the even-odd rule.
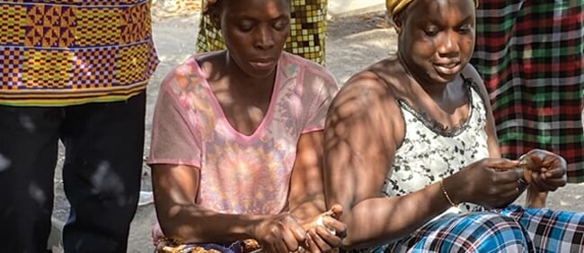
[[[394,97],[375,74],[362,73],[332,102],[324,132],[327,204],[343,207],[345,248],[402,237],[449,207],[438,184],[401,197],[381,196],[403,119]]]

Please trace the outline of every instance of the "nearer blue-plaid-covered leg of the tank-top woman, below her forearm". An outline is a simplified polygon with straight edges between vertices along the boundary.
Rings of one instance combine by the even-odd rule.
[[[533,245],[514,219],[481,212],[447,214],[382,249],[385,252],[532,252]]]

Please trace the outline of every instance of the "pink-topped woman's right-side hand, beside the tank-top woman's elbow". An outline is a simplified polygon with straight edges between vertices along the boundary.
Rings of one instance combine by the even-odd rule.
[[[341,205],[332,205],[331,210],[319,214],[302,227],[306,231],[304,248],[310,252],[330,252],[341,245],[347,235],[347,226],[340,222]]]

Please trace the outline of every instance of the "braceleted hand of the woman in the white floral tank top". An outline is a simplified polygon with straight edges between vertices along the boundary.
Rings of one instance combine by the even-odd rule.
[[[456,203],[471,202],[485,207],[509,205],[520,195],[522,170],[518,161],[485,158],[445,179],[448,194]]]

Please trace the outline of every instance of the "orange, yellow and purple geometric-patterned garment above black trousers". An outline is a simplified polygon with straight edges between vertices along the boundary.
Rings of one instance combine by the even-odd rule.
[[[158,64],[150,0],[0,1],[0,104],[126,100]]]

